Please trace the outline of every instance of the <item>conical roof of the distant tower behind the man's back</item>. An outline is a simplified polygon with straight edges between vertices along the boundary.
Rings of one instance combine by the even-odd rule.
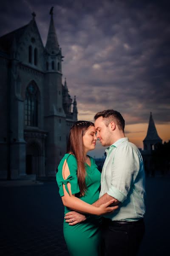
[[[147,135],[144,139],[144,141],[146,140],[157,140],[157,141],[162,141],[162,139],[159,137],[157,131],[156,131],[156,126],[155,123],[153,121],[153,117],[152,117],[152,112],[150,112],[150,119],[149,119],[149,125],[148,125],[148,129],[147,129]]]

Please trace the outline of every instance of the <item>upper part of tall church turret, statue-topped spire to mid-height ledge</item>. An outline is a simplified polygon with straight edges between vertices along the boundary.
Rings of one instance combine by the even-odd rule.
[[[50,10],[50,25],[48,30],[47,43],[45,46],[46,74],[45,94],[48,95],[48,104],[45,108],[46,115],[65,116],[62,108],[62,54],[59,49],[57,34],[53,20],[53,7]]]

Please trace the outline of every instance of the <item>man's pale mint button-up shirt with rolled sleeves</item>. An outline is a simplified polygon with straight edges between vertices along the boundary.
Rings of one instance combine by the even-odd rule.
[[[139,149],[128,138],[121,138],[106,149],[99,197],[108,195],[120,201],[119,208],[105,215],[112,221],[137,221],[143,218],[144,166]]]

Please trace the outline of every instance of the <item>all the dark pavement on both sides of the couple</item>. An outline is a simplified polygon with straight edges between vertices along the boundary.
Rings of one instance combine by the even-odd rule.
[[[0,187],[0,255],[68,256],[55,181]],[[146,233],[139,256],[169,255],[170,179],[147,178]],[[167,217],[167,218],[166,218]],[[90,256],[90,255],[89,255]]]

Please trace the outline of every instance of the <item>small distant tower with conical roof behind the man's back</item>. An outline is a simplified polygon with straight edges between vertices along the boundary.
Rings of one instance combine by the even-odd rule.
[[[162,144],[162,139],[159,137],[156,126],[153,121],[152,112],[150,112],[149,125],[147,129],[147,135],[143,140],[144,150],[154,150],[157,144]]]

